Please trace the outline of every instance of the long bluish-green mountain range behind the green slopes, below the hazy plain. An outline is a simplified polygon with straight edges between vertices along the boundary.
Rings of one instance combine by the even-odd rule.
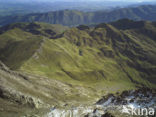
[[[121,8],[113,11],[81,12],[76,10],[62,10],[47,13],[32,13],[28,15],[6,16],[0,18],[0,25],[15,22],[46,22],[75,26],[80,24],[97,24],[112,22],[122,18],[133,20],[156,20],[156,5]]]

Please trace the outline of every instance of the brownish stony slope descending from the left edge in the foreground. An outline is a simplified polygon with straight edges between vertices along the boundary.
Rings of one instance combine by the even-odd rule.
[[[82,89],[77,88],[75,95],[85,95],[87,90]],[[0,61],[0,117],[42,117],[53,105],[65,105],[72,91],[69,84],[15,72]]]

